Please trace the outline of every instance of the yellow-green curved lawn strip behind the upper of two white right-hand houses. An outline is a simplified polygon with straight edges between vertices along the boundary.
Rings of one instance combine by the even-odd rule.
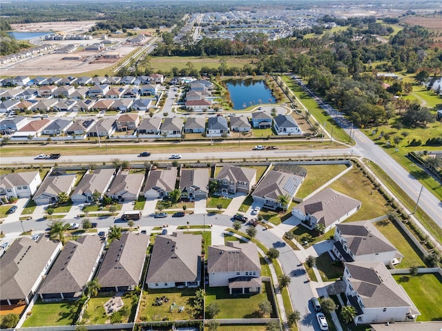
[[[413,265],[425,266],[425,263],[423,263],[421,259],[421,254],[417,248],[415,248],[414,243],[407,239],[408,237],[405,232],[403,232],[396,223],[385,220],[376,222],[374,225],[391,241],[394,247],[403,254],[402,262],[396,265],[396,268],[410,268]]]

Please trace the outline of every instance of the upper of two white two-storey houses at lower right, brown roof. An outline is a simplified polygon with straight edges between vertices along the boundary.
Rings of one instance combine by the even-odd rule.
[[[343,262],[401,263],[403,255],[370,221],[336,224],[332,254]]]

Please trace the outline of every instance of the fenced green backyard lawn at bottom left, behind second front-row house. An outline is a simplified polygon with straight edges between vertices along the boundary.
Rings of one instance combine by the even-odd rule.
[[[41,299],[32,308],[32,315],[23,323],[23,328],[34,326],[71,325],[78,306],[76,301],[44,303]]]

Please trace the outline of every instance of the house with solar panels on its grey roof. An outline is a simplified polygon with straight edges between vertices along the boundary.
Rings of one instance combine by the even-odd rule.
[[[286,209],[305,177],[294,172],[270,170],[258,183],[251,196],[253,201],[262,203],[265,208],[276,210]],[[282,205],[280,197],[287,197],[287,205]]]

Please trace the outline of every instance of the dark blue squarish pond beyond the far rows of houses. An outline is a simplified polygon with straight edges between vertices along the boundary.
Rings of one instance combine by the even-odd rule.
[[[253,79],[226,81],[233,109],[240,110],[260,103],[275,103],[271,90],[265,81]]]

